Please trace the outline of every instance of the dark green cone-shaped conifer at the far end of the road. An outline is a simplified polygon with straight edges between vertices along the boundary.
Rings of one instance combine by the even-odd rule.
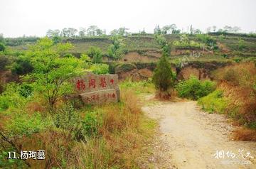
[[[168,92],[171,87],[174,87],[174,75],[165,53],[156,65],[152,81],[159,92]]]

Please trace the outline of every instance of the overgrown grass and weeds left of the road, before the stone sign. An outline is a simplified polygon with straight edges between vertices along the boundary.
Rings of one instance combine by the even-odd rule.
[[[16,150],[1,140],[0,168],[140,168],[156,127],[140,108],[139,97],[152,91],[150,85],[122,82],[117,104],[89,107],[63,101],[55,115],[43,109],[40,99],[25,102],[12,93],[22,104],[1,111],[1,131],[23,151],[45,150],[46,160],[7,160],[6,153]]]

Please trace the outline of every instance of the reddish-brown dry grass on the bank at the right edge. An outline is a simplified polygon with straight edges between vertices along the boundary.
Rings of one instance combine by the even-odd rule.
[[[251,129],[235,131],[236,140],[255,141],[256,137],[256,67],[253,62],[245,62],[215,71],[218,89],[223,90],[229,104],[225,110],[239,126],[245,124]]]

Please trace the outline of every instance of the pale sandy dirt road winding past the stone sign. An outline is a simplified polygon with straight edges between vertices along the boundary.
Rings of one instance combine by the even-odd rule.
[[[225,116],[203,112],[196,102],[159,102],[142,110],[159,121],[153,168],[256,168],[256,143],[233,141],[235,126]]]

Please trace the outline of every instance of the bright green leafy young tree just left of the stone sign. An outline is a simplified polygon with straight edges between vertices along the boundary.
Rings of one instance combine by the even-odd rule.
[[[82,61],[78,58],[60,57],[60,53],[66,53],[71,47],[70,43],[54,45],[53,40],[41,38],[28,53],[34,69],[24,80],[31,82],[47,100],[50,112],[55,112],[60,97],[73,92],[69,80],[82,70]]]

